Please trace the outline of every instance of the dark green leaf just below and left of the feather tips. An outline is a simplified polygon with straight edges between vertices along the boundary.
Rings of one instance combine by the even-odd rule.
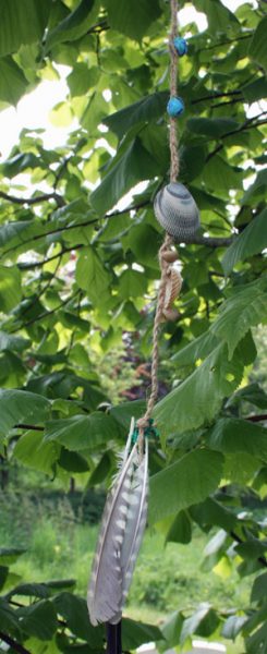
[[[102,629],[101,627],[92,627],[85,600],[71,593],[60,593],[53,602],[57,613],[66,620],[72,633],[87,641],[93,650],[101,649]]]

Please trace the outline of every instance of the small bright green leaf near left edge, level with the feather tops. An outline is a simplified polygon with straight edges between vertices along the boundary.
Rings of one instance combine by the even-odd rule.
[[[41,432],[25,432],[16,441],[13,457],[28,468],[51,474],[60,447],[56,443],[44,443]]]

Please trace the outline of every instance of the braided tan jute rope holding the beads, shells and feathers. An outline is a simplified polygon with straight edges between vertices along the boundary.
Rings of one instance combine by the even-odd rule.
[[[177,96],[177,64],[178,53],[173,46],[173,40],[178,33],[178,1],[170,0],[171,7],[171,29],[169,36],[169,51],[170,51],[170,97]],[[179,152],[178,152],[178,135],[177,135],[177,120],[175,118],[169,119],[169,135],[170,135],[170,181],[175,182],[179,174]],[[162,312],[166,300],[166,289],[168,283],[169,263],[165,259],[165,253],[170,250],[173,243],[172,237],[168,233],[165,235],[165,241],[159,250],[159,264],[161,269],[161,277],[158,289],[157,308],[154,319],[153,328],[153,354],[151,354],[151,390],[147,400],[146,412],[137,421],[138,427],[138,450],[142,456],[144,447],[144,431],[149,424],[149,419],[155,407],[158,396],[158,363],[159,363],[159,331],[162,323]]]

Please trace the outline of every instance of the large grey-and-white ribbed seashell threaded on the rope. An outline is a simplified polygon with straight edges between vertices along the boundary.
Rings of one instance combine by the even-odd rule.
[[[154,210],[157,220],[179,243],[190,243],[199,227],[196,203],[180,182],[170,182],[157,193]]]

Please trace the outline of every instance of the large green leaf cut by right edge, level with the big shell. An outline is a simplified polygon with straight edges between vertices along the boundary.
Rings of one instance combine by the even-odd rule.
[[[238,262],[243,262],[254,254],[258,254],[267,247],[267,209],[264,209],[254,218],[247,227],[228,247],[223,258],[222,267],[229,275]]]

